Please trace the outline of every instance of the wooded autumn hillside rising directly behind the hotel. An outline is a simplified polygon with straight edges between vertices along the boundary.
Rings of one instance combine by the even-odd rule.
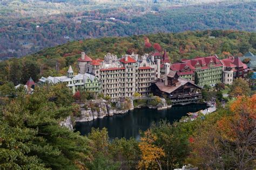
[[[145,37],[149,38],[151,47],[145,47]],[[173,63],[194,56],[217,54],[224,58],[229,53],[235,56],[242,56],[248,51],[256,53],[255,42],[256,33],[232,30],[158,33],[73,41],[46,48],[21,59],[0,62],[0,82],[11,81],[19,84],[25,83],[30,76],[37,81],[41,76],[65,75],[69,65],[77,72],[77,59],[81,52],[85,52],[93,59],[103,58],[106,53],[114,53],[119,57],[132,52],[141,55],[153,52],[153,44],[158,43],[162,49],[166,49]]]

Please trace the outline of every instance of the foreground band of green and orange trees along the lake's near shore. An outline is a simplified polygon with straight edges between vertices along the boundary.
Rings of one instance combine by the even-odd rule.
[[[253,169],[256,95],[246,96],[245,87],[246,81],[235,79],[230,88],[239,95],[224,108],[217,104],[211,114],[161,121],[139,140],[110,141],[107,129],[80,136],[59,125],[79,111],[62,84],[36,87],[28,95],[5,83],[0,86],[0,169]]]

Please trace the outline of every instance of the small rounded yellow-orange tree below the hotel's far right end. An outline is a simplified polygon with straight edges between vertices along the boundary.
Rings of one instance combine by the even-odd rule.
[[[233,84],[230,87],[230,97],[237,97],[242,95],[250,95],[251,89],[248,82],[239,77],[233,81]]]

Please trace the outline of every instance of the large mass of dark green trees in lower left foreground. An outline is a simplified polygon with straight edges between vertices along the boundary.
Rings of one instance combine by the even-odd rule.
[[[86,167],[88,139],[59,125],[72,115],[70,99],[70,91],[61,85],[46,86],[36,88],[32,95],[18,94],[1,108],[0,162],[8,162],[1,168]]]

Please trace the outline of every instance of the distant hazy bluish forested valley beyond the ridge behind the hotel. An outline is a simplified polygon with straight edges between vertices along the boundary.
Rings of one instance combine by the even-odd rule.
[[[79,2],[79,1],[74,1]],[[1,2],[0,60],[66,42],[187,30],[255,31],[255,2]],[[112,18],[112,19],[111,19]]]

